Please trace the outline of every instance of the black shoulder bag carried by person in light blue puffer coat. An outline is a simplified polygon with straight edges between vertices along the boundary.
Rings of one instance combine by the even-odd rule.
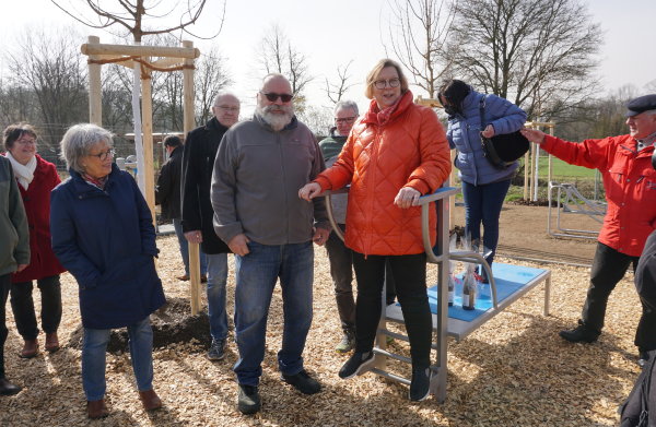
[[[481,97],[479,103],[479,114],[481,119],[481,132],[485,129],[485,96]],[[481,144],[483,155],[496,168],[505,169],[520,158],[530,146],[530,143],[522,132],[497,134],[492,138],[485,138],[481,134]]]

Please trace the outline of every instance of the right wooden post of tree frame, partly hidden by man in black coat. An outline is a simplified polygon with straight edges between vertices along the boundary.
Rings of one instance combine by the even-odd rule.
[[[183,40],[184,48],[192,48],[194,41]],[[195,128],[194,118],[194,58],[185,59],[183,70],[185,137]],[[191,299],[191,316],[200,311],[200,249],[189,242],[189,286]]]

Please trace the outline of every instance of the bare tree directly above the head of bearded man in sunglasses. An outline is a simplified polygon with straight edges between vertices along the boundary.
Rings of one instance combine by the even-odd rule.
[[[280,73],[290,81],[295,95],[294,106],[297,111],[303,111],[303,90],[314,79],[308,71],[307,57],[292,47],[292,43],[278,24],[271,25],[262,37],[258,56],[266,73]]]

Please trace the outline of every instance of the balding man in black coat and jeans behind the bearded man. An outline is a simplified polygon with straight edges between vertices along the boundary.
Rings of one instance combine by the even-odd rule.
[[[221,92],[214,97],[214,117],[187,135],[183,153],[183,232],[191,244],[200,244],[207,260],[208,316],[212,344],[210,360],[225,356],[227,313],[225,311],[225,284],[227,282],[227,252],[230,249],[212,227],[210,185],[214,157],[223,134],[239,118],[239,99]]]

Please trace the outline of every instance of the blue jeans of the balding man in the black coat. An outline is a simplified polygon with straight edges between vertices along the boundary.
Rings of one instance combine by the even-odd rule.
[[[227,282],[227,253],[208,253],[208,317],[213,340],[227,336],[225,311],[225,283]]]

